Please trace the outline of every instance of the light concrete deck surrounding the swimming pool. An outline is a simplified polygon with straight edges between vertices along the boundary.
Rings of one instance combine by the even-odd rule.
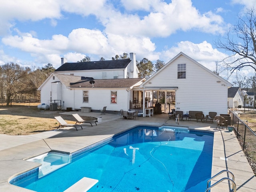
[[[32,192],[9,184],[13,177],[38,167],[35,162],[28,159],[50,150],[76,152],[95,142],[104,140],[119,132],[137,125],[148,126],[177,126],[174,120],[169,120],[167,114],[159,114],[151,117],[139,117],[138,120],[123,120],[120,115],[83,112],[64,112],[61,114],[78,113],[80,116],[102,116],[102,122],[98,126],[85,124],[83,130],[66,127],[59,130],[52,130],[28,136],[8,136],[0,134],[0,191],[3,192]],[[61,115],[60,114],[60,115]],[[212,176],[222,170],[230,170],[235,177],[237,192],[255,192],[256,177],[248,163],[242,148],[240,147],[234,132],[225,128],[216,129],[216,122],[213,124],[196,121],[181,121],[178,126],[187,126],[189,129],[208,130],[214,132],[214,146],[212,159]],[[214,178],[213,182],[221,178],[229,177],[222,173]],[[224,180],[212,188],[211,192],[229,192],[231,183]]]

